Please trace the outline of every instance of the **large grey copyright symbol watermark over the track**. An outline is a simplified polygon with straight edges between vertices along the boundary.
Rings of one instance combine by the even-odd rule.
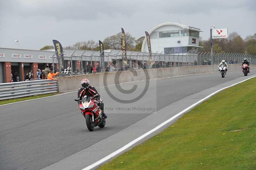
[[[113,61],[112,63],[115,63],[114,66],[116,66],[116,64],[117,64],[116,61]],[[135,63],[133,63],[133,64],[135,64]],[[128,66],[128,65],[127,65],[127,66]],[[141,62],[138,61],[138,66],[143,66],[143,64],[141,64]],[[127,67],[126,67],[126,68],[127,68]],[[141,70],[141,71],[142,71],[142,70]],[[138,76],[136,70],[131,70],[131,72],[132,72],[133,76]],[[149,74],[148,74],[148,71],[147,71],[147,69],[143,69],[143,72],[144,72],[145,77],[146,77],[146,85],[145,85],[145,87],[144,87],[142,93],[141,93],[138,97],[136,97],[136,98],[134,98],[134,99],[131,99],[131,100],[122,100],[122,99],[119,99],[119,98],[117,98],[116,96],[114,96],[114,95],[109,91],[109,89],[108,89],[108,84],[107,84],[107,82],[108,82],[108,81],[107,81],[108,72],[105,72],[105,73],[104,73],[104,76],[103,76],[103,84],[104,84],[104,86],[105,86],[104,88],[105,88],[107,94],[108,94],[113,100],[115,100],[116,102],[124,103],[124,104],[134,103],[134,102],[140,100],[140,99],[146,94],[146,92],[148,91],[148,87],[149,87]],[[124,93],[124,94],[131,94],[131,93],[133,93],[133,92],[137,89],[138,85],[133,85],[132,89],[129,89],[129,90],[123,89],[123,88],[120,86],[120,82],[119,82],[119,77],[120,77],[120,75],[121,75],[122,72],[119,72],[119,71],[118,71],[118,72],[115,72],[115,73],[116,73],[116,74],[115,74],[115,79],[114,79],[114,81],[115,81],[115,84],[116,84],[116,89],[117,89],[118,91],[120,91],[121,93]]]

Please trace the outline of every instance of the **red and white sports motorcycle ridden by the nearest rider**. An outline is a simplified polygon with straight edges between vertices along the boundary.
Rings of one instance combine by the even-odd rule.
[[[82,100],[78,98],[75,101],[80,101],[79,108],[81,114],[84,115],[85,123],[89,131],[93,131],[95,126],[103,128],[106,125],[106,119],[103,118],[100,107],[98,106],[98,101],[96,98],[99,95],[94,95],[93,97],[84,96]]]

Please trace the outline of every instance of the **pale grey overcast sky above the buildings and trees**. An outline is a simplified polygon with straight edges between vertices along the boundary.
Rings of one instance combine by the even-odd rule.
[[[145,36],[158,24],[228,28],[242,38],[256,33],[256,0],[0,0],[0,47],[39,50],[78,41],[103,40],[121,32]]]

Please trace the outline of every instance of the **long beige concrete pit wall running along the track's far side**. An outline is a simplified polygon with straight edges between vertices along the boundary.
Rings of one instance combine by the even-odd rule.
[[[251,69],[256,68],[255,65],[251,65]],[[229,64],[228,71],[240,70],[241,64]],[[76,76],[58,77],[59,92],[65,92],[70,90],[78,90],[81,87],[81,80],[86,78],[90,80],[90,84],[94,87],[104,86],[103,77],[107,76],[107,85],[113,85],[115,83],[115,76],[120,74],[119,83],[141,81],[146,80],[144,71],[148,72],[149,79],[166,78],[173,76],[182,76],[190,74],[200,73],[214,73],[218,72],[217,65],[208,66],[187,66],[187,67],[170,67],[170,68],[158,68],[147,70],[131,70],[121,72],[107,72],[107,73],[94,73],[94,74],[82,74]],[[137,73],[137,76],[133,75],[133,72]],[[134,73],[135,74],[135,73]],[[241,73],[242,74],[242,73]],[[136,74],[135,74],[136,75]]]

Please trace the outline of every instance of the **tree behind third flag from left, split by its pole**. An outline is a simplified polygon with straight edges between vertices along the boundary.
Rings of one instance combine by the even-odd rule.
[[[132,50],[134,48],[135,38],[130,33],[125,33],[125,43],[126,50]],[[122,46],[122,33],[118,33],[115,35],[111,35],[105,38],[102,42],[104,44],[104,48],[107,49],[115,49],[121,50]]]

